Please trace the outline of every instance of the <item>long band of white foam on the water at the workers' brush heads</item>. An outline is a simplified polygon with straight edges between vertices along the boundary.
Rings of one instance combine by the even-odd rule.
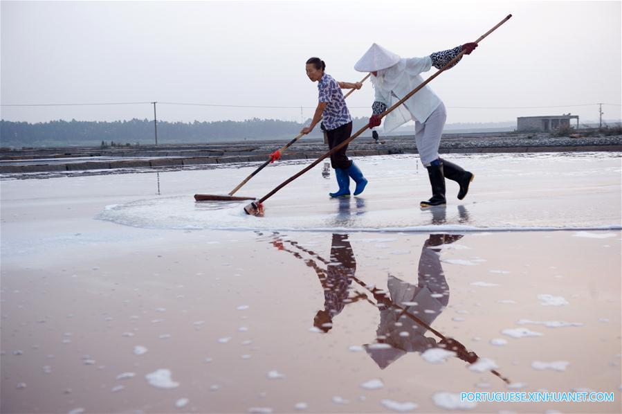
[[[313,199],[313,195],[309,195]],[[315,199],[313,199],[315,200]],[[202,202],[196,203],[190,195],[174,197],[157,197],[153,199],[139,199],[126,204],[116,204],[104,207],[95,216],[96,219],[114,222],[125,226],[138,228],[159,228],[177,230],[239,230],[239,231],[313,231],[313,232],[384,232],[384,233],[490,233],[495,231],[556,231],[569,230],[577,232],[618,231],[622,226],[612,222],[603,224],[598,216],[589,216],[587,219],[578,213],[576,217],[562,217],[551,215],[548,220],[551,226],[531,226],[532,217],[525,215],[518,217],[513,223],[506,226],[498,224],[504,222],[502,217],[489,214],[482,215],[474,224],[461,224],[457,219],[449,219],[446,224],[430,224],[430,216],[425,212],[413,214],[410,205],[390,205],[390,208],[376,208],[372,210],[364,206],[347,204],[346,213],[327,200],[323,204],[312,204],[303,197],[288,197],[283,201],[285,205],[276,204],[273,213],[266,207],[263,217],[250,216],[244,213],[244,206],[248,201],[234,202]],[[359,201],[360,202],[360,201]],[[390,201],[385,201],[389,203]],[[363,201],[364,203],[364,201]],[[475,208],[475,206],[473,207]],[[513,208],[506,206],[506,209]],[[452,223],[454,221],[455,223]],[[415,225],[413,225],[413,222]],[[327,226],[327,223],[333,225]],[[596,226],[573,225],[573,223],[598,223]],[[608,236],[607,236],[608,237]],[[385,242],[391,239],[378,239]],[[457,247],[455,249],[461,249]],[[393,254],[407,254],[394,251]],[[475,264],[475,262],[472,262]]]

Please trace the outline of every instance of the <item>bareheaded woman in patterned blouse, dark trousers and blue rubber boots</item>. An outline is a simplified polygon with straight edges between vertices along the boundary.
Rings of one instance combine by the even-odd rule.
[[[307,76],[311,82],[318,82],[318,107],[313,114],[313,120],[309,127],[302,128],[302,134],[309,134],[313,127],[322,120],[322,125],[326,129],[329,148],[334,147],[347,140],[352,133],[352,118],[341,89],[360,89],[363,86],[360,82],[337,82],[331,75],[325,73],[326,64],[319,57],[311,57],[307,60]],[[356,188],[354,195],[359,195],[365,186],[367,179],[363,177],[363,172],[356,164],[348,159],[345,152],[348,146],[341,148],[331,155],[331,166],[335,169],[335,177],[339,190],[331,192],[331,197],[349,197],[350,178],[354,179]]]

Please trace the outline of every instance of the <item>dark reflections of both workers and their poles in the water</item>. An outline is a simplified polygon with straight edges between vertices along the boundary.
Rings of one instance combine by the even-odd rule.
[[[344,210],[349,215],[349,203]],[[432,223],[442,224],[446,208],[432,208],[430,213]],[[464,206],[458,207],[458,213],[461,222],[468,222],[468,211]],[[336,317],[345,306],[364,301],[380,312],[376,339],[363,345],[365,352],[379,368],[387,368],[408,352],[423,353],[433,348],[448,350],[452,356],[470,364],[479,361],[475,352],[467,350],[457,339],[445,336],[432,327],[436,318],[446,309],[450,298],[450,288],[441,266],[441,250],[464,235],[428,235],[419,256],[417,283],[401,280],[389,273],[387,289],[368,285],[356,276],[356,258],[347,234],[333,233],[331,237],[329,260],[304,248],[295,240],[284,240],[279,233],[275,232],[271,237],[273,246],[303,260],[318,276],[324,290],[324,309],[319,310],[313,318],[313,326],[318,332],[327,333],[333,329]],[[509,384],[509,380],[499,372],[491,372]]]

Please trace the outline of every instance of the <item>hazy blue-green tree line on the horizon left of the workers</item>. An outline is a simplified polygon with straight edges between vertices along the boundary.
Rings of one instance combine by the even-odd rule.
[[[367,118],[354,120],[354,131]],[[307,120],[306,125],[309,125]],[[255,141],[291,139],[298,135],[302,124],[277,119],[253,118],[244,121],[170,123],[158,121],[158,143],[214,143],[218,141]],[[0,120],[1,147],[49,147],[80,145],[145,145],[154,144],[154,121],[148,119],[117,120],[114,122],[53,120],[46,123],[26,123]],[[369,135],[369,134],[367,134]],[[311,136],[320,137],[315,127]]]

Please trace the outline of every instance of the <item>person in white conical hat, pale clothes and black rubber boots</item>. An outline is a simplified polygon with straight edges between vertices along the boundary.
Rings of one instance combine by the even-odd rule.
[[[426,57],[402,58],[379,44],[372,44],[354,65],[356,71],[372,73],[376,96],[372,105],[373,114],[369,118],[369,127],[381,125],[378,115],[423,83],[420,73],[429,71],[432,66],[441,69],[461,51],[464,50],[468,55],[476,47],[477,43],[467,43]],[[421,163],[428,170],[432,187],[432,198],[421,201],[423,208],[446,204],[445,178],[458,183],[460,186],[458,199],[464,199],[469,183],[475,177],[472,172],[465,171],[459,165],[439,157],[439,145],[446,118],[447,112],[443,101],[427,85],[385,117],[385,132],[392,131],[409,120],[415,121],[414,138],[417,150]]]

